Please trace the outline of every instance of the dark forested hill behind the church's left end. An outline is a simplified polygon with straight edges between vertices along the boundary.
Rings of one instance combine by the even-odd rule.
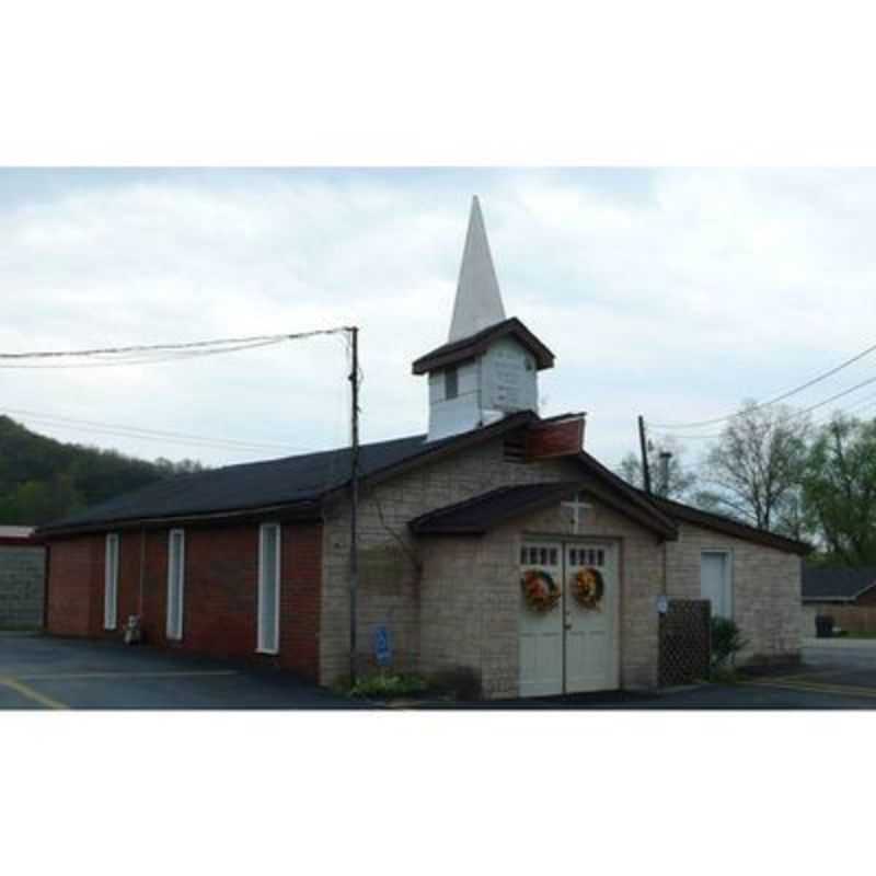
[[[0,416],[0,525],[39,526],[198,462],[147,462],[115,450],[68,445]]]

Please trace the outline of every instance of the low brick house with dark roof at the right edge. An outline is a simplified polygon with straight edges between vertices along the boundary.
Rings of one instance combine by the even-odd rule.
[[[829,614],[850,632],[876,632],[876,566],[803,567],[804,635],[815,635],[815,619]]]

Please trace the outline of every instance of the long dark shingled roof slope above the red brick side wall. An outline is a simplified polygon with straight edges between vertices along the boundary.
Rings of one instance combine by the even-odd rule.
[[[427,460],[475,446],[538,419],[523,411],[491,426],[427,441],[425,435],[362,445],[362,482],[377,482]],[[284,510],[316,518],[323,497],[343,491],[350,480],[350,448],[208,469],[158,481],[41,527],[59,535],[161,521],[244,517]]]

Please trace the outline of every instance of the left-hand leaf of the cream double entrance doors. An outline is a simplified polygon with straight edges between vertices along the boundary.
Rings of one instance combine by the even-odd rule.
[[[563,586],[561,542],[525,542],[520,549],[520,575],[529,569],[546,572]],[[563,692],[562,602],[545,612],[529,608],[520,591],[520,695],[548,696]]]

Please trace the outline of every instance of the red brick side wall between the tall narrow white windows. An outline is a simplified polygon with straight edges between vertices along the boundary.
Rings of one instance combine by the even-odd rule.
[[[103,630],[104,535],[51,542],[48,631],[118,637],[129,614],[140,614],[148,643],[215,657],[275,664],[319,677],[322,526],[283,526],[280,650],[256,655],[258,526],[185,529],[182,642],[165,636],[168,533],[124,533],[119,550],[118,630]],[[143,540],[145,539],[145,545]],[[141,564],[141,552],[145,562]],[[141,603],[142,566],[142,603]]]

